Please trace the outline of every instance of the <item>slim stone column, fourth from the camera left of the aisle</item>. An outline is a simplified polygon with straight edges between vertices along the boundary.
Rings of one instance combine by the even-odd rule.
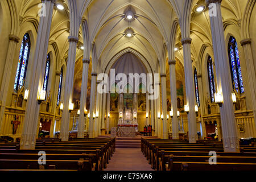
[[[96,77],[97,73],[92,73],[92,80],[90,86],[90,119],[89,119],[89,138],[93,138],[93,113],[95,105],[95,92],[96,92]]]

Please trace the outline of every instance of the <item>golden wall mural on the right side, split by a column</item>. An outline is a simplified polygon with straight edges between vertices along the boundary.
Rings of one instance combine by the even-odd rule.
[[[185,73],[184,67],[179,60],[176,61],[176,88],[177,88],[177,108],[184,110],[185,103]],[[166,61],[166,92],[167,92],[167,111],[171,110],[171,88],[170,88],[170,69]]]

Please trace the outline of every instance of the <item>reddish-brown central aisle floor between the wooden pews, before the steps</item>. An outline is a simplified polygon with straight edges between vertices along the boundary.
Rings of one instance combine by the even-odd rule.
[[[153,171],[141,148],[116,148],[105,171]]]

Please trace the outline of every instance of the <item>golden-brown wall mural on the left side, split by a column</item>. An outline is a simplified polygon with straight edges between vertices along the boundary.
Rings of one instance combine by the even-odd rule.
[[[89,64],[88,72],[88,83],[87,83],[87,95],[86,95],[86,109],[90,108],[90,82],[91,82],[91,73],[92,73],[92,61]],[[75,63],[75,75],[73,83],[73,103],[74,109],[80,108],[80,97],[81,97],[81,86],[82,86],[82,57]]]

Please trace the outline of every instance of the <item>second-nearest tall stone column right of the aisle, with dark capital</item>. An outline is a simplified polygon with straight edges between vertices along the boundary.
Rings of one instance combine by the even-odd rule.
[[[196,126],[196,111],[195,111],[195,86],[193,82],[192,61],[191,61],[191,38],[183,38],[181,40],[183,45],[184,55],[184,71],[185,71],[185,86],[187,105],[189,106],[188,113],[188,135],[189,143],[196,143],[197,140],[197,126]]]

